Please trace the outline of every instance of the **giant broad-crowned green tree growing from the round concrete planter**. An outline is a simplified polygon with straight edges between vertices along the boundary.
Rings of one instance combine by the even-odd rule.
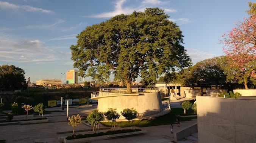
[[[130,15],[116,15],[86,27],[70,46],[80,76],[125,81],[127,88],[141,76],[148,83],[159,75],[191,64],[183,47],[182,32],[163,9],[146,8]]]

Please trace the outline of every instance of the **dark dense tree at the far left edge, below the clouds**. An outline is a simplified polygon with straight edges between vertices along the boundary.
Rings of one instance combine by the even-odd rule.
[[[24,75],[25,71],[14,65],[0,66],[0,89],[5,91],[27,89]]]

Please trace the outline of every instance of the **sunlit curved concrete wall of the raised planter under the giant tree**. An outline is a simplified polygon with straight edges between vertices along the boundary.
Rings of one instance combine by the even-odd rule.
[[[120,113],[125,108],[134,108],[137,113],[161,110],[160,92],[145,93],[144,95],[112,96],[98,99],[98,110],[108,111],[108,108],[117,108]]]

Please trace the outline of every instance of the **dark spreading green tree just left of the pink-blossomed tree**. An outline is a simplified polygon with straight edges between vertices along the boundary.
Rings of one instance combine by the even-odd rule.
[[[194,65],[199,78],[208,83],[214,83],[217,89],[219,82],[225,81],[225,63],[223,56],[204,59]]]

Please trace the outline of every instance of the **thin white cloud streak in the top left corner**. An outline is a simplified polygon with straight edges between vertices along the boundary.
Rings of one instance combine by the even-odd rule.
[[[0,9],[12,9],[12,10],[23,9],[28,12],[42,12],[47,14],[53,13],[53,11],[42,9],[42,8],[35,8],[33,6],[27,6],[27,5],[15,5],[12,3],[1,2],[1,1],[0,1]]]

